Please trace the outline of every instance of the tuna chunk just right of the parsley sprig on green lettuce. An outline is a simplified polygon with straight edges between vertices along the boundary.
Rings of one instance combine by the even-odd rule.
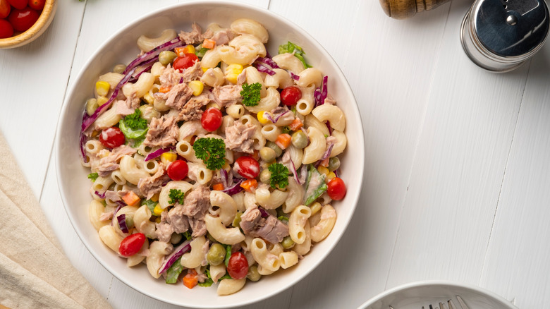
[[[176,117],[154,118],[149,124],[149,131],[143,144],[151,147],[166,148],[178,141],[179,128]]]

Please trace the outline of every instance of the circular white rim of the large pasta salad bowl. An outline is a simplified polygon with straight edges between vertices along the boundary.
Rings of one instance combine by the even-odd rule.
[[[279,294],[283,291],[286,291],[287,289],[292,288],[293,286],[295,286],[295,284],[298,284],[298,282],[302,281],[302,279],[307,277],[307,275],[310,274],[314,269],[317,269],[317,267],[319,267],[319,265],[324,260],[326,260],[326,257],[334,250],[334,248],[336,248],[336,245],[341,240],[341,237],[343,236],[343,234],[345,234],[346,230],[348,229],[348,226],[349,226],[349,224],[350,224],[350,222],[353,218],[353,214],[354,214],[354,212],[357,208],[357,203],[359,201],[360,191],[361,191],[361,186],[362,186],[363,176],[364,176],[364,167],[365,167],[365,156],[364,155],[362,156],[362,159],[357,160],[356,162],[354,161],[354,164],[355,164],[354,166],[357,167],[357,171],[360,174],[359,175],[360,176],[359,177],[360,183],[358,185],[359,190],[357,192],[357,195],[352,196],[351,199],[348,200],[348,203],[346,203],[346,207],[351,208],[350,209],[350,215],[349,215],[347,221],[343,222],[343,226],[342,226],[343,229],[342,229],[341,234],[336,235],[336,238],[334,239],[334,243],[332,243],[332,245],[329,246],[328,250],[326,250],[322,253],[321,257],[318,260],[313,262],[312,267],[310,267],[310,269],[305,269],[306,270],[305,272],[301,272],[298,275],[298,278],[295,281],[293,281],[292,284],[288,284],[288,285],[283,286],[279,289],[268,289],[268,291],[266,291],[266,293],[264,293],[262,296],[259,296],[257,298],[243,299],[239,302],[235,302],[235,303],[231,303],[231,304],[214,305],[214,306],[212,306],[212,305],[182,304],[182,303],[172,302],[172,301],[160,298],[160,296],[154,295],[154,294],[150,293],[147,290],[138,289],[137,287],[133,286],[128,280],[124,279],[123,277],[119,277],[118,274],[116,274],[115,267],[111,267],[111,265],[109,265],[108,263],[106,264],[106,263],[101,262],[101,258],[99,257],[99,255],[97,253],[93,252],[93,250],[92,250],[93,246],[90,243],[88,243],[87,238],[85,238],[85,236],[83,234],[83,231],[78,226],[75,225],[76,222],[75,222],[75,220],[73,220],[73,218],[71,216],[71,212],[70,212],[69,207],[68,207],[68,201],[67,201],[66,196],[65,196],[66,193],[63,193],[62,182],[61,182],[61,175],[63,175],[63,174],[61,173],[62,164],[61,164],[61,162],[59,162],[59,160],[60,160],[60,157],[61,157],[60,153],[61,153],[62,145],[61,145],[60,135],[61,135],[61,129],[63,128],[63,121],[64,121],[64,119],[66,119],[67,114],[68,114],[68,107],[69,107],[69,103],[70,103],[69,101],[73,97],[74,92],[78,91],[77,87],[76,87],[77,86],[76,82],[82,78],[82,75],[84,75],[85,71],[87,71],[87,69],[90,68],[90,66],[92,65],[92,62],[95,59],[97,59],[97,57],[100,54],[100,51],[102,49],[104,49],[104,47],[106,47],[106,45],[109,44],[109,42],[111,42],[114,39],[114,37],[120,35],[123,32],[126,32],[126,31],[130,30],[130,28],[133,28],[135,25],[138,25],[139,23],[142,23],[144,20],[147,20],[148,18],[151,18],[152,16],[155,16],[155,15],[161,13],[161,12],[164,12],[164,11],[170,11],[170,10],[173,10],[173,9],[185,9],[185,7],[188,7],[188,6],[197,6],[197,5],[204,5],[204,4],[208,4],[208,5],[211,5],[211,6],[216,5],[216,4],[220,4],[220,5],[225,5],[225,6],[233,6],[233,8],[238,8],[238,9],[247,9],[247,10],[251,10],[251,11],[260,11],[260,12],[270,16],[270,18],[274,18],[274,20],[282,20],[284,23],[287,23],[292,28],[294,28],[296,30],[300,30],[300,33],[309,42],[312,43],[312,46],[314,46],[314,48],[318,49],[321,52],[321,54],[323,54],[323,56],[326,57],[329,60],[329,62],[331,63],[331,66],[334,66],[334,69],[335,69],[334,71],[336,73],[337,78],[342,81],[341,84],[343,86],[343,91],[347,92],[350,95],[350,97],[353,98],[353,102],[350,102],[350,104],[352,105],[351,108],[355,109],[355,111],[357,111],[357,114],[354,115],[354,116],[357,116],[358,125],[361,128],[361,130],[355,132],[355,134],[356,134],[357,143],[360,143],[360,145],[359,145],[360,149],[362,151],[362,154],[364,154],[364,150],[365,150],[365,133],[362,130],[362,128],[363,128],[362,119],[361,119],[361,115],[360,115],[360,112],[359,112],[357,99],[355,98],[355,95],[353,94],[353,90],[351,89],[350,83],[348,83],[348,80],[346,79],[346,76],[343,74],[343,71],[341,70],[340,66],[338,66],[338,63],[336,63],[336,61],[334,61],[334,58],[331,56],[331,54],[329,54],[329,52],[327,52],[326,49],[324,49],[324,47],[314,37],[312,37],[312,35],[310,35],[308,32],[306,32],[305,30],[300,28],[300,26],[293,23],[293,21],[288,20],[287,18],[285,18],[285,17],[283,17],[283,16],[281,16],[277,13],[269,11],[269,9],[262,8],[260,6],[255,6],[253,4],[236,3],[236,2],[232,2],[232,1],[228,1],[228,0],[193,0],[193,1],[188,1],[188,2],[185,2],[185,3],[178,3],[178,4],[171,4],[171,5],[168,5],[168,6],[162,6],[160,8],[157,8],[154,11],[151,11],[149,13],[143,14],[142,16],[139,16],[138,18],[132,20],[130,23],[127,23],[122,28],[120,28],[116,32],[114,32],[111,36],[106,38],[104,40],[103,44],[99,45],[99,47],[97,47],[97,49],[94,51],[94,53],[91,56],[89,56],[87,61],[85,61],[85,63],[82,65],[82,68],[80,69],[80,71],[76,75],[76,77],[74,79],[75,81],[71,84],[70,89],[67,92],[67,95],[66,95],[66,97],[63,101],[63,106],[61,108],[61,114],[60,114],[61,116],[59,117],[59,120],[58,120],[58,123],[57,123],[56,138],[55,138],[56,139],[56,142],[55,142],[56,143],[55,144],[56,174],[57,174],[58,188],[59,188],[59,192],[60,192],[60,195],[61,195],[61,200],[63,202],[63,207],[65,208],[66,214],[69,218],[69,221],[71,222],[71,225],[73,226],[73,229],[75,229],[76,234],[78,235],[78,238],[80,238],[80,241],[82,241],[82,243],[85,245],[85,248],[88,250],[88,252],[90,252],[90,254],[97,260],[97,262],[99,262],[99,265],[104,267],[104,269],[107,269],[113,277],[116,277],[116,279],[122,281],[124,284],[126,284],[126,286],[130,287],[131,289],[133,289],[135,291],[138,291],[139,293],[142,293],[142,294],[144,294],[146,296],[149,296],[151,298],[154,298],[157,301],[164,302],[164,303],[170,303],[170,304],[173,304],[173,305],[184,305],[184,306],[188,306],[190,308],[235,308],[235,307],[238,307],[238,306],[250,305],[252,303],[257,303],[259,301],[264,301],[267,298],[270,298],[271,296],[275,296],[276,294]]]

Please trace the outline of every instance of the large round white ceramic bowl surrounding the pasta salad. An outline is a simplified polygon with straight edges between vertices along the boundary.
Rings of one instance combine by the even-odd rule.
[[[334,207],[338,219],[331,234],[312,248],[311,252],[291,269],[265,276],[258,282],[247,282],[245,287],[230,296],[217,296],[216,289],[196,287],[185,289],[181,284],[166,284],[154,279],[145,265],[126,267],[126,259],[116,256],[99,240],[97,231],[90,224],[87,208],[90,196],[90,172],[80,164],[79,133],[82,111],[86,99],[93,95],[94,83],[102,73],[117,63],[129,63],[139,53],[136,40],[140,35],[154,37],[161,30],[190,30],[193,21],[206,28],[209,23],[228,27],[236,18],[252,18],[269,31],[267,49],[277,54],[279,44],[294,42],[304,48],[306,59],[312,66],[329,76],[329,93],[346,114],[348,147],[341,157],[341,178],[346,181],[347,195]],[[288,20],[255,6],[231,4],[220,1],[197,1],[178,4],[136,18],[135,22],[118,31],[87,61],[63,104],[56,136],[59,189],[66,212],[75,231],[90,253],[113,274],[133,289],[166,303],[194,308],[228,308],[260,301],[279,293],[300,281],[317,267],[331,252],[350,222],[360,194],[364,164],[364,139],[362,124],[353,93],[331,56],[310,35]],[[334,253],[342,254],[342,253]],[[342,254],[344,258],[346,255]]]

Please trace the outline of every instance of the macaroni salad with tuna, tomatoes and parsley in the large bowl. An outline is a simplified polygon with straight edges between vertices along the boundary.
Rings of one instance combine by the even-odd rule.
[[[346,119],[305,51],[270,56],[268,39],[246,18],[193,23],[99,76],[80,133],[88,211],[128,267],[228,295],[331,232]]]

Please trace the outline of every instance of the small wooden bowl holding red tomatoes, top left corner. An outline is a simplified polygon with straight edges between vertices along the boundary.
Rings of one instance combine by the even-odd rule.
[[[44,9],[40,13],[40,17],[34,25],[32,25],[27,31],[21,32],[13,37],[6,37],[6,39],[0,39],[0,49],[8,49],[14,47],[20,47],[28,44],[37,39],[48,28],[51,20],[56,15],[57,0],[46,0]]]

